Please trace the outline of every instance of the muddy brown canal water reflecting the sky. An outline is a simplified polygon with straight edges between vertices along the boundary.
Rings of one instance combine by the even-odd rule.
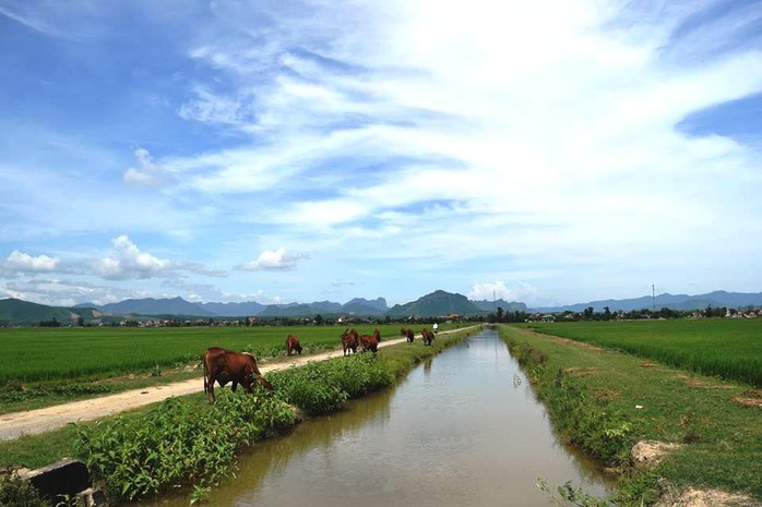
[[[558,442],[491,330],[421,364],[392,390],[259,445],[236,475],[209,505],[555,505],[537,478],[606,492],[597,467]],[[186,506],[188,497],[157,505]]]

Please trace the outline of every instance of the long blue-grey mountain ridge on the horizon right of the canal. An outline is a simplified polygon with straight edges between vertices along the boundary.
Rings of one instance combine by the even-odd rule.
[[[670,294],[663,293],[655,298],[643,295],[641,298],[623,299],[623,300],[602,300],[591,301],[587,303],[569,304],[565,306],[543,306],[533,309],[533,312],[540,313],[560,313],[560,312],[583,312],[586,307],[592,306],[595,312],[603,312],[605,306],[611,312],[618,310],[631,312],[633,310],[653,309],[656,310],[668,307],[671,310],[690,311],[703,310],[707,306],[712,307],[745,307],[745,306],[762,306],[762,292],[743,293],[743,292],[726,292],[717,290],[706,294],[688,295],[688,294]]]

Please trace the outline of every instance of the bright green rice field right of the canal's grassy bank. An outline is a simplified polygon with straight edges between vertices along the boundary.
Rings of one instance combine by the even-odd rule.
[[[762,318],[534,323],[531,327],[702,375],[762,386]]]

